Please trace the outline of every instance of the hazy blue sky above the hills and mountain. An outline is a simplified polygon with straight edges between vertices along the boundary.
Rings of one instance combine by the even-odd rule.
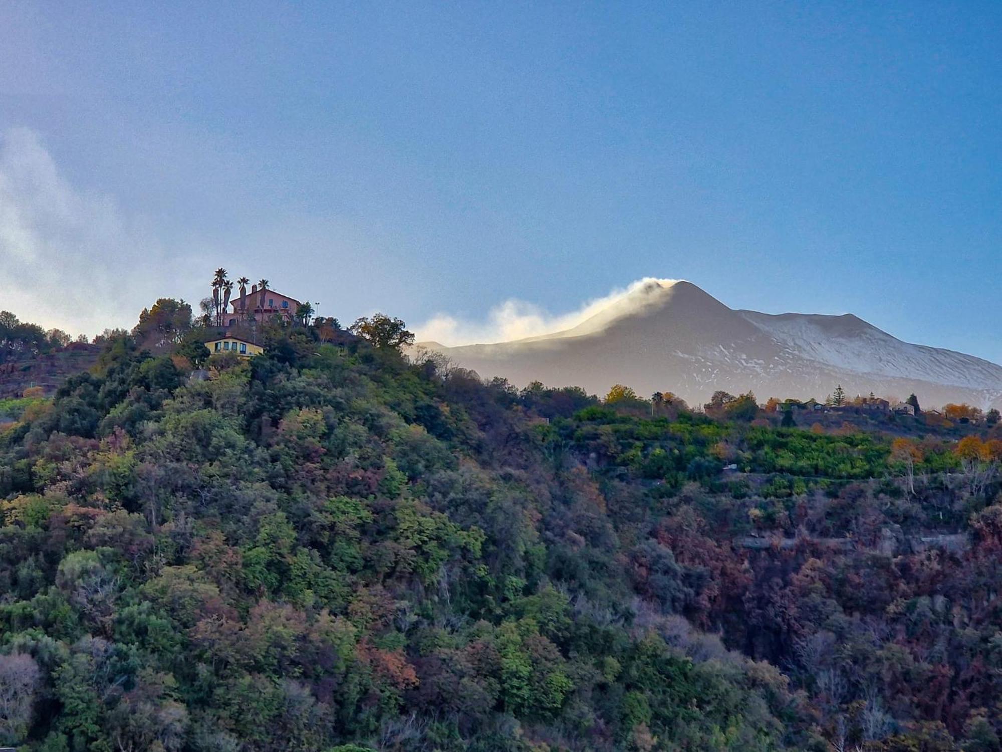
[[[1002,361],[1000,39],[997,0],[6,0],[0,308],[92,334],[224,266],[486,336],[650,276]]]

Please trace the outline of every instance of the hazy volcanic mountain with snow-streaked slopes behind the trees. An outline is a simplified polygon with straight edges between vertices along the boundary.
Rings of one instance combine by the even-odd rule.
[[[646,281],[565,331],[496,344],[422,343],[481,376],[539,380],[604,394],[616,383],[640,394],[672,391],[692,404],[722,389],[762,398],[850,395],[922,404],[1002,404],[1002,367],[913,345],[862,319],[763,314],[727,308],[689,282]]]

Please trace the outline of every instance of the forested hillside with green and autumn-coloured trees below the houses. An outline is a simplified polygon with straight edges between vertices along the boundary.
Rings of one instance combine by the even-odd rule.
[[[999,749],[990,434],[651,417],[361,334],[195,378],[117,336],[8,401],[0,743]]]

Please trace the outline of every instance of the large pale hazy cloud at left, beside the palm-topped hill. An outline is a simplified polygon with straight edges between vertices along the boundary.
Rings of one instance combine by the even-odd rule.
[[[0,309],[94,334],[135,323],[190,267],[112,197],[79,190],[29,128],[0,133]]]

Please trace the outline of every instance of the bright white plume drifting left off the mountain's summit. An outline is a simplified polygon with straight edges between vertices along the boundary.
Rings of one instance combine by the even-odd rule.
[[[674,282],[675,280],[645,277],[625,288],[613,290],[606,296],[588,301],[576,311],[566,314],[553,315],[537,305],[516,299],[505,301],[492,308],[487,314],[486,321],[462,321],[448,314],[437,314],[415,328],[417,340],[454,347],[539,337],[571,329],[600,312],[614,309],[617,304],[623,303],[623,299],[642,288],[649,288],[651,285],[667,286]],[[634,299],[637,305],[642,305],[642,297],[634,296]]]

